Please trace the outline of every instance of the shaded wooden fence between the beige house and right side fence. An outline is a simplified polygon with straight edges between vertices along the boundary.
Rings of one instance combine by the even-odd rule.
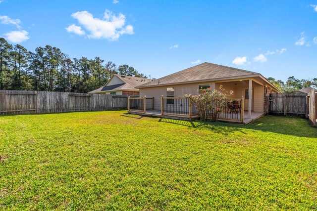
[[[266,95],[266,114],[307,117],[306,93],[272,93]]]

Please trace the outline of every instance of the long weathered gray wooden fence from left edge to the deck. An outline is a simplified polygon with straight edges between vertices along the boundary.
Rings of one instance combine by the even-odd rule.
[[[109,111],[127,108],[127,95],[0,90],[0,114]]]

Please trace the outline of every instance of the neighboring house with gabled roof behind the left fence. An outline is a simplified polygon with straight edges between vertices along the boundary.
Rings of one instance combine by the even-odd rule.
[[[90,94],[118,94],[118,95],[139,95],[136,86],[151,82],[151,79],[144,79],[132,76],[113,74],[105,86],[90,91]]]

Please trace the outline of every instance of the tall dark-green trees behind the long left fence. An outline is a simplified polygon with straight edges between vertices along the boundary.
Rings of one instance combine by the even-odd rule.
[[[151,79],[126,64],[117,67],[100,57],[71,59],[51,45],[31,52],[0,38],[0,89],[87,93],[105,85],[113,74]]]

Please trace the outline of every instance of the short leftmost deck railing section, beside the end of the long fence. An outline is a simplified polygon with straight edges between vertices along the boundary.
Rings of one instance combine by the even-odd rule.
[[[128,111],[145,113],[154,110],[154,97],[128,97]]]

